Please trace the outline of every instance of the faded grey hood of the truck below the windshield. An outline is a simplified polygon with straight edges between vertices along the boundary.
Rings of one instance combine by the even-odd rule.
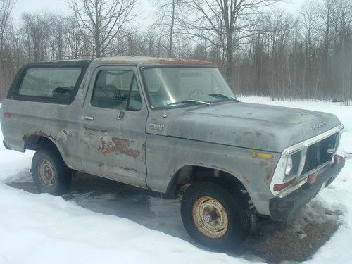
[[[329,113],[230,102],[182,111],[170,118],[166,134],[203,142],[282,152],[288,146],[315,137],[340,124],[339,119]]]

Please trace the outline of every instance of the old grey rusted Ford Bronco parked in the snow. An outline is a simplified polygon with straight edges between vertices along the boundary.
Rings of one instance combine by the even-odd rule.
[[[39,191],[76,171],[182,196],[200,244],[227,249],[252,213],[285,221],[339,174],[328,113],[242,103],[213,63],[117,57],[32,63],[1,106],[6,149],[36,151]]]

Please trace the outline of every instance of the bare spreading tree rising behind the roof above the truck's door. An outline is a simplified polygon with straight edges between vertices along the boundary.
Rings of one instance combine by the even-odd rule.
[[[68,4],[96,57],[104,56],[113,39],[136,18],[137,0],[68,0]]]

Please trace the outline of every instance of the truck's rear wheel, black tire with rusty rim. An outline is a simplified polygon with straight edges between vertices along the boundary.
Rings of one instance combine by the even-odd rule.
[[[43,148],[34,153],[32,177],[40,192],[61,195],[70,189],[72,171],[56,149]]]

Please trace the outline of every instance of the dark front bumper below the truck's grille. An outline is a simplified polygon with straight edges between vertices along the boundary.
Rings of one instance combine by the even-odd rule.
[[[345,159],[340,157],[339,163],[327,168],[317,175],[317,180],[313,184],[303,184],[299,189],[283,198],[275,197],[269,201],[269,210],[272,220],[286,221],[291,215],[305,206],[313,199],[322,187],[329,185],[339,175],[345,165]]]

